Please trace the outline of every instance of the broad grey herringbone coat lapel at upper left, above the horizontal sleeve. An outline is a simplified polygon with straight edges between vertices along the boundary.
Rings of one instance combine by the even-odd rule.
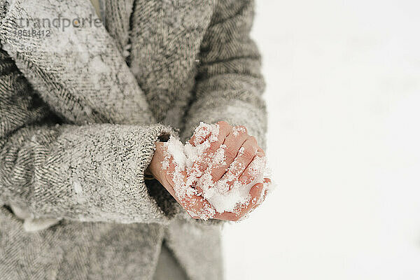
[[[3,15],[2,48],[69,123],[155,122],[120,52],[128,32],[114,41],[102,24],[95,25],[99,18],[89,0],[15,0]],[[111,30],[127,31],[127,24],[123,16]]]

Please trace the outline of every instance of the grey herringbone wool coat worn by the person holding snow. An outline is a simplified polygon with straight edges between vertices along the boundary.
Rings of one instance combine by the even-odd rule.
[[[165,241],[190,279],[221,279],[220,223],[144,171],[200,121],[264,142],[253,1],[105,5],[94,26],[89,0],[0,0],[0,278],[151,279]]]

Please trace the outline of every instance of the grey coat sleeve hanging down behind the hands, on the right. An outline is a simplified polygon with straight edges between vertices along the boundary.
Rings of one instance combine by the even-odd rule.
[[[202,40],[195,100],[181,135],[184,140],[192,136],[200,121],[225,120],[245,125],[258,144],[265,146],[265,83],[258,48],[249,36],[252,22],[252,0],[217,1]]]

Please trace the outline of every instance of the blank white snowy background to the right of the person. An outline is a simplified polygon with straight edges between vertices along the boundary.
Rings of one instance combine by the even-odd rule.
[[[257,3],[278,186],[226,278],[420,279],[420,1]]]

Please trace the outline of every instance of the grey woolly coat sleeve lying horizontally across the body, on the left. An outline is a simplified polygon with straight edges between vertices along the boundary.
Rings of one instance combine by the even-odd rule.
[[[167,223],[144,180],[163,125],[60,125],[0,51],[0,205],[32,218]],[[160,187],[161,186],[155,186]]]

